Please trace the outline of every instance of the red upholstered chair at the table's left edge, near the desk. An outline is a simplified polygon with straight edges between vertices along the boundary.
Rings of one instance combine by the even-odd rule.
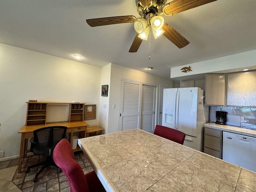
[[[53,160],[66,175],[70,192],[106,192],[94,171],[84,175],[68,140],[62,139],[55,146]]]

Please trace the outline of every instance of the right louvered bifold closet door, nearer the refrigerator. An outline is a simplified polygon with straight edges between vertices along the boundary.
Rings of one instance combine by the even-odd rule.
[[[154,86],[142,85],[142,104],[140,129],[153,133],[155,119],[155,89]]]

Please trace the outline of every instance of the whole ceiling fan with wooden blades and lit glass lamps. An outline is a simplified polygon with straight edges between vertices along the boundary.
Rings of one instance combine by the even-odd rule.
[[[166,4],[166,0],[138,0],[137,11],[141,16],[140,18],[135,16],[115,16],[87,19],[86,22],[92,27],[134,22],[134,29],[137,34],[129,52],[137,52],[142,41],[148,39],[151,29],[154,38],[158,38],[163,34],[178,48],[182,48],[188,45],[189,41],[170,25],[164,23],[161,15],[171,16],[214,1],[216,0],[173,0]]]

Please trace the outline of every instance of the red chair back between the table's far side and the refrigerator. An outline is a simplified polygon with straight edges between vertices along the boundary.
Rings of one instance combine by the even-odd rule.
[[[156,125],[154,134],[182,145],[186,137],[186,134],[179,130],[168,128],[161,125]]]

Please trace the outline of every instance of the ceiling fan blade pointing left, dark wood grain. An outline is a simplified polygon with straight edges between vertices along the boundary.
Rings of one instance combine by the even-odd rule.
[[[116,16],[116,17],[104,17],[96,19],[86,19],[86,22],[91,27],[102,26],[102,25],[112,25],[119,23],[130,23],[136,20],[135,16]]]

